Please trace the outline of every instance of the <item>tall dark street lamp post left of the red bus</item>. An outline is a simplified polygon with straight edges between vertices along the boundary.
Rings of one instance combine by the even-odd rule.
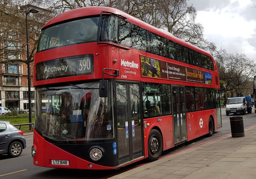
[[[27,87],[28,87],[28,96],[29,96],[29,123],[32,123],[30,61],[29,61],[29,35],[27,33],[27,15],[29,13],[38,13],[38,10],[31,8],[27,12],[27,6],[25,7],[25,10],[26,10],[26,38],[27,38]]]

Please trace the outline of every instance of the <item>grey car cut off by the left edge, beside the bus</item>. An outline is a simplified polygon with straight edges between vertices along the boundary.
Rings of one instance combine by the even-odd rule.
[[[17,157],[22,154],[24,148],[26,148],[26,139],[23,132],[9,121],[0,121],[0,155]]]

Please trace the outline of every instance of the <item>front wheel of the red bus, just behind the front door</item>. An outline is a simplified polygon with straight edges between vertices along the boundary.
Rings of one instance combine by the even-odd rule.
[[[163,151],[163,139],[158,130],[152,129],[148,136],[148,159],[156,161],[160,158]]]

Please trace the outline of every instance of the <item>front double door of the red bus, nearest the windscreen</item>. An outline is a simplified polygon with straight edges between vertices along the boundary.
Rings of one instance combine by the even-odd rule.
[[[118,165],[144,156],[142,152],[140,84],[116,82]]]

